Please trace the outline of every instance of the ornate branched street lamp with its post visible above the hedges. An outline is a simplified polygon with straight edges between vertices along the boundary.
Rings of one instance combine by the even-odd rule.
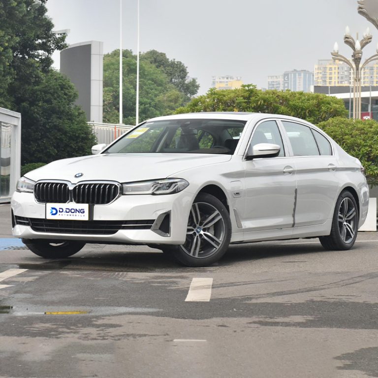
[[[363,39],[361,41],[357,38],[354,39],[349,32],[349,28],[347,27],[344,34],[344,43],[347,44],[352,50],[352,58],[351,61],[347,59],[345,56],[339,54],[339,46],[337,42],[333,47],[333,52],[331,53],[332,59],[334,61],[340,61],[346,63],[352,70],[353,73],[353,119],[360,119],[361,118],[361,72],[366,66],[366,64],[371,63],[373,61],[378,60],[378,48],[377,54],[372,55],[370,58],[366,59],[366,61],[361,64],[362,59],[362,49],[372,41],[372,35],[370,34],[369,28],[363,35]]]

